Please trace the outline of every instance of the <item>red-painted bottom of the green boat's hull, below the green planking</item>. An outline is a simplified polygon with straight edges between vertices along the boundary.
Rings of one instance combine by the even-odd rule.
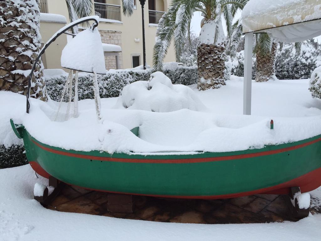
[[[319,180],[319,182],[317,182]],[[70,183],[66,183],[71,186],[76,186]],[[301,192],[310,192],[317,189],[321,185],[321,168],[313,170],[307,174],[299,176],[291,181],[281,183],[272,187],[261,188],[254,191],[249,192],[239,192],[225,195],[214,195],[214,196],[176,196],[176,195],[155,195],[155,194],[145,194],[145,193],[130,193],[130,192],[112,192],[106,190],[99,190],[93,188],[87,188],[82,186],[76,186],[80,188],[84,188],[87,190],[98,191],[98,192],[110,192],[110,193],[120,193],[120,194],[128,194],[128,195],[137,195],[137,196],[151,196],[151,197],[162,197],[162,198],[182,198],[182,199],[227,199],[227,198],[237,198],[255,194],[289,194],[291,187],[300,187]]]

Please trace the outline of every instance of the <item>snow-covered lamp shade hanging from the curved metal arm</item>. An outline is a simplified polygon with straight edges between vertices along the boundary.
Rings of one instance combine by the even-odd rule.
[[[100,33],[88,28],[67,43],[61,54],[61,66],[83,72],[106,74]]]

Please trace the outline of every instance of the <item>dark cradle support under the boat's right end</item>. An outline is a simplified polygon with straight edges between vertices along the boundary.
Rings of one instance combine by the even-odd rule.
[[[301,190],[299,187],[290,188],[290,193],[287,196],[287,204],[293,218],[304,219],[309,216],[310,208],[307,208],[307,209],[299,208],[298,199],[295,197],[295,194],[297,194],[298,192],[301,194]],[[294,206],[291,200],[294,201]]]

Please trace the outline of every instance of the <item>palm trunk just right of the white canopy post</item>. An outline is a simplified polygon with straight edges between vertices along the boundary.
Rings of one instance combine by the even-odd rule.
[[[269,54],[256,53],[256,82],[265,82],[268,80],[275,80],[275,54],[277,50],[277,43],[272,43],[272,49]]]

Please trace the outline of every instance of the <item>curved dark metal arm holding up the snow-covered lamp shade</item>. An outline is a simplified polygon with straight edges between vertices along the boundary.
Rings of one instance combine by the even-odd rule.
[[[61,34],[65,33],[65,31],[73,28],[74,26],[81,24],[83,22],[88,22],[88,21],[94,21],[94,23],[92,24],[92,30],[94,30],[97,26],[98,26],[98,21],[97,18],[94,17],[84,17],[81,19],[78,19],[74,22],[69,23],[68,25],[66,25],[65,27],[61,28],[59,31],[57,31],[49,40],[48,42],[42,47],[42,49],[40,50],[32,68],[29,74],[29,82],[28,82],[28,90],[27,90],[27,113],[29,113],[29,109],[30,109],[30,103],[29,103],[29,96],[30,96],[30,88],[31,88],[31,79],[33,76],[33,72],[36,69],[37,63],[41,57],[41,55],[45,52],[45,50],[49,47],[49,45],[54,42]]]

